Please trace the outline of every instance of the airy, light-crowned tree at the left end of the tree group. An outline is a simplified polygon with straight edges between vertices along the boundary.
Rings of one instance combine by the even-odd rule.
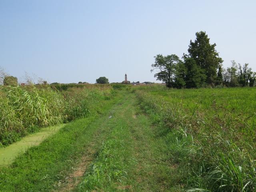
[[[163,56],[162,54],[158,54],[155,57],[155,63],[152,64],[151,72],[154,70],[159,71],[154,75],[157,80],[166,82],[167,87],[174,86],[175,72],[176,66],[180,64],[182,61],[180,58],[175,55],[167,55]]]

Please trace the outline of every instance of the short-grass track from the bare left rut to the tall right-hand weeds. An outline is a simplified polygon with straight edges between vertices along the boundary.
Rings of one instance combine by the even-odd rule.
[[[108,126],[111,132],[97,158],[72,191],[172,191],[178,181],[166,142],[157,136],[134,94],[124,96]]]

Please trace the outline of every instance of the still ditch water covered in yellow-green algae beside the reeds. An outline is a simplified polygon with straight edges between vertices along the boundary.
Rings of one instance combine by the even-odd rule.
[[[20,141],[5,148],[0,148],[0,166],[8,166],[16,156],[24,153],[31,146],[39,145],[45,138],[58,132],[65,124],[41,128],[39,132],[30,134]]]

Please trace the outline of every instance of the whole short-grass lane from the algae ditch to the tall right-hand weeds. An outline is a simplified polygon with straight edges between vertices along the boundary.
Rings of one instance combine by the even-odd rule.
[[[76,120],[0,170],[0,191],[172,191],[175,166],[133,93]]]

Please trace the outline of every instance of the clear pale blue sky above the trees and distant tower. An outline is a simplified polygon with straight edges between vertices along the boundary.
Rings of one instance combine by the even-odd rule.
[[[255,0],[0,0],[0,66],[22,81],[154,81],[156,54],[203,30],[224,60],[256,71]]]

